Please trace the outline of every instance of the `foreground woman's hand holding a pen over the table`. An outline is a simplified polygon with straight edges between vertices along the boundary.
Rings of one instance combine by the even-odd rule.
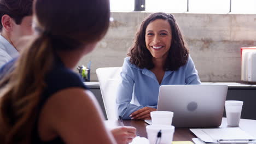
[[[134,127],[117,127],[111,130],[115,141],[118,144],[127,144],[132,142],[132,139],[136,137],[136,128]]]

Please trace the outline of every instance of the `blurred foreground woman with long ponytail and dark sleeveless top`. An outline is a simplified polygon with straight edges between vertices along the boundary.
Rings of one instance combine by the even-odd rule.
[[[107,0],[34,1],[37,35],[1,69],[1,143],[132,141],[133,127],[109,133],[94,95],[72,71],[106,34],[109,13]]]

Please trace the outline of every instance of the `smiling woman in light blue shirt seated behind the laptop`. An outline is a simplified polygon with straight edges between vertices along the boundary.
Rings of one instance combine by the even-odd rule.
[[[118,88],[118,114],[124,119],[151,119],[161,85],[200,84],[181,31],[171,14],[149,15],[125,58]]]

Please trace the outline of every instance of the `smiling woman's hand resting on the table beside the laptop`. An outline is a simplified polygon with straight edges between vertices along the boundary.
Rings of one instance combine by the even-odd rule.
[[[131,119],[151,119],[150,112],[156,111],[156,109],[152,107],[143,107],[135,112],[133,112],[130,117]]]

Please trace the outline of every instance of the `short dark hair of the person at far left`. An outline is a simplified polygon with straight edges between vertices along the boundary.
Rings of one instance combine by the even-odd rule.
[[[32,15],[33,0],[0,0],[0,17],[7,14],[14,19],[17,25],[20,25],[25,16]],[[2,31],[0,22],[0,31]]]

